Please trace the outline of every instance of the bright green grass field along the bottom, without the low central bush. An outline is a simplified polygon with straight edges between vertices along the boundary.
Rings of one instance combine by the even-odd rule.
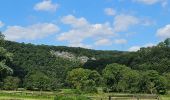
[[[0,91],[0,100],[54,100],[57,94],[74,95],[74,92],[69,89],[64,89],[61,92],[35,92],[35,91]],[[128,97],[132,94],[120,93],[98,93],[98,94],[83,94],[90,97],[92,100],[108,100],[110,95],[121,97],[118,100],[137,100],[136,98]],[[126,97],[127,96],[127,97]],[[170,94],[160,95],[160,100],[170,100]],[[114,98],[114,97],[113,97]],[[156,100],[156,99],[140,99],[140,100]]]

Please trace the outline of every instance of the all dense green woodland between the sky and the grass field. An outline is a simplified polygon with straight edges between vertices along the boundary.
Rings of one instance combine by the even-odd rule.
[[[137,52],[17,43],[0,34],[0,89],[159,93],[170,89],[170,39]]]

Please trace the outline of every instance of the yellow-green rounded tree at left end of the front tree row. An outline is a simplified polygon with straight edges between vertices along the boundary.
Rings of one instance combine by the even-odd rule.
[[[85,92],[96,91],[97,83],[100,80],[100,75],[96,71],[77,68],[68,72],[67,83],[72,88],[76,88]]]

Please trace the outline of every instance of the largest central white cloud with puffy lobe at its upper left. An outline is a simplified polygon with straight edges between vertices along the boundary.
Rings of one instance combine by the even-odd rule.
[[[76,18],[73,15],[64,16],[61,21],[70,25],[69,31],[63,32],[57,37],[59,41],[67,41],[70,44],[82,43],[85,39],[115,36],[112,27],[108,23],[90,24],[85,18]]]

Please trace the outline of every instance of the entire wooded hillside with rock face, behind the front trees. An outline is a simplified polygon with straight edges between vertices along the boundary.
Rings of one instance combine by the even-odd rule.
[[[65,79],[71,70],[85,68],[96,70],[102,75],[105,67],[112,63],[139,72],[154,70],[159,75],[170,72],[170,48],[166,41],[154,47],[141,48],[137,52],[34,45],[5,40],[0,41],[0,46],[13,55],[13,60],[7,65],[14,71],[12,76],[20,79],[19,87],[30,90],[70,87]]]

